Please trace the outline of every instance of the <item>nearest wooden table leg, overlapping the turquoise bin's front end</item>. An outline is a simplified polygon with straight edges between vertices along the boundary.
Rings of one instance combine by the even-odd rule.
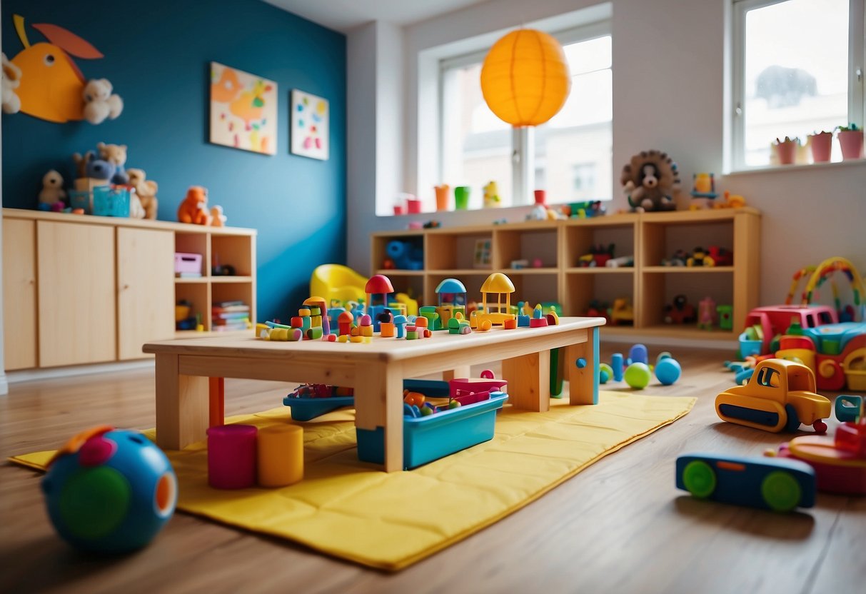
[[[367,363],[355,371],[355,426],[385,432],[385,472],[403,470],[403,370]]]

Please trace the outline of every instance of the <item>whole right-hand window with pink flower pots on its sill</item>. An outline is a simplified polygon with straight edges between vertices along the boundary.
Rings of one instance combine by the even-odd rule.
[[[771,165],[777,138],[863,126],[863,0],[735,0],[733,33],[734,169]]]

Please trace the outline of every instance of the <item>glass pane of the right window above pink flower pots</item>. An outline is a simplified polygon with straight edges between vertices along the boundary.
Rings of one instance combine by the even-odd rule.
[[[848,121],[848,0],[788,0],[746,12],[746,165],[770,163],[774,139]],[[832,160],[841,158],[834,155]]]

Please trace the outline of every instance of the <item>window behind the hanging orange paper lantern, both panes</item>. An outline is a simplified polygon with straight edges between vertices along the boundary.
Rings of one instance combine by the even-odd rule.
[[[485,103],[486,49],[440,62],[441,179],[471,188],[470,209],[481,208],[481,188],[491,180],[503,206],[532,203],[535,189],[547,190],[551,203],[611,199],[610,24],[554,36],[569,62],[572,92],[559,113],[534,129],[512,129]]]

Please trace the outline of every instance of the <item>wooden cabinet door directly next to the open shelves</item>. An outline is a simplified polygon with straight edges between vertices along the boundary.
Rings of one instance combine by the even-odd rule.
[[[174,338],[174,233],[117,229],[118,358],[145,358],[141,345]]]

